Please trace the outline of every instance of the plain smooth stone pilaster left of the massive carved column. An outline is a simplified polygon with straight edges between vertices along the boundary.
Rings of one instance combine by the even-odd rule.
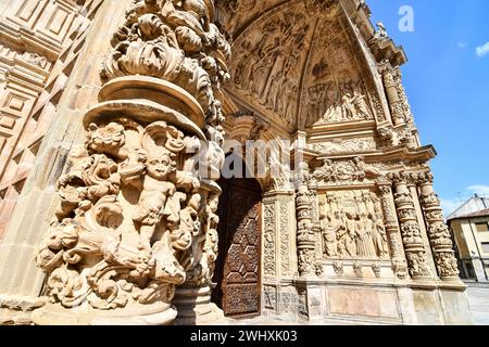
[[[63,172],[70,149],[79,140],[82,117],[89,105],[97,102],[100,88],[98,70],[110,49],[110,31],[121,24],[129,2],[104,1],[97,12],[91,13],[93,20],[87,28],[87,40],[85,44],[77,42],[80,44],[79,57],[71,57],[73,73],[63,91],[59,91],[58,107],[55,112],[49,108],[57,121],[47,130],[32,175],[24,184],[0,243],[0,321],[29,323],[33,310],[47,301],[39,298],[46,277],[33,261],[36,245],[54,211],[57,180]],[[58,82],[55,86],[60,87]]]

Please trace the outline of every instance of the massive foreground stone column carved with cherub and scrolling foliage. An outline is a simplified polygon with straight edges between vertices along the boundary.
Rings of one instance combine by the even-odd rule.
[[[193,320],[216,311],[224,117],[214,93],[230,48],[213,16],[212,1],[141,0],[126,13],[38,247],[51,303],[37,324],[171,324],[173,304]]]

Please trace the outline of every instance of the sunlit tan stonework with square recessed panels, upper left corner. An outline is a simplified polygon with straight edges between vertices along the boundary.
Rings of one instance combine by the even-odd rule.
[[[101,0],[0,5],[0,239]]]

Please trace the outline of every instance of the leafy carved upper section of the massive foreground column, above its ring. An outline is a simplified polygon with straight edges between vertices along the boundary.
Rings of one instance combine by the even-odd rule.
[[[135,0],[112,39],[114,50],[102,65],[104,80],[143,75],[173,82],[192,94],[208,124],[224,121],[214,94],[229,78],[230,46],[212,23],[205,0]]]

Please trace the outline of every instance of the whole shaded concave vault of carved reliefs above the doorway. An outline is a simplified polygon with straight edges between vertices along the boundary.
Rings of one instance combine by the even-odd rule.
[[[240,1],[241,7],[260,5]],[[229,89],[289,131],[373,120],[372,98],[338,3],[298,1],[288,8],[277,7],[238,30]]]

